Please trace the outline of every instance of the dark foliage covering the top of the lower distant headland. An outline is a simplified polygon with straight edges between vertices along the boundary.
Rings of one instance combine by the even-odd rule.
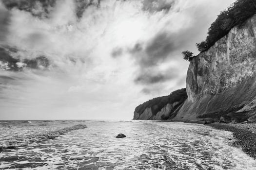
[[[153,115],[156,115],[161,109],[168,103],[172,104],[174,102],[182,103],[187,99],[186,88],[182,88],[176,91],[173,91],[168,96],[162,96],[158,98],[151,99],[143,104],[140,104],[136,107],[135,112],[139,115],[143,113],[143,111],[150,107]]]

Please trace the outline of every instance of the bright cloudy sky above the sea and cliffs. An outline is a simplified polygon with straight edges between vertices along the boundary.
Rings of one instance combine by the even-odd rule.
[[[133,119],[234,1],[0,0],[0,119]]]

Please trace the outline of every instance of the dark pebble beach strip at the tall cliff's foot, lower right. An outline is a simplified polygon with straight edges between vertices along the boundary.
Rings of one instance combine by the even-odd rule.
[[[233,136],[236,138],[233,145],[241,147],[244,153],[256,159],[256,123],[211,123],[206,125],[218,130],[233,132]]]

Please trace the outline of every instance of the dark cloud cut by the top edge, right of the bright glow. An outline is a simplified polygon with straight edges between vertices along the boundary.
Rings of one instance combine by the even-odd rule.
[[[151,13],[163,10],[168,12],[173,6],[174,2],[175,0],[143,0],[142,9]]]

